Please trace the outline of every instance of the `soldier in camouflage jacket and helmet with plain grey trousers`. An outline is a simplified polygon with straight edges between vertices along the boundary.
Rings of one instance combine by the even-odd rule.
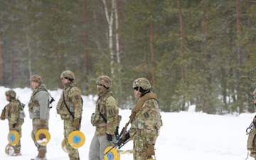
[[[98,99],[95,113],[91,117],[91,123],[96,129],[90,144],[89,160],[104,159],[105,149],[116,139],[114,132],[120,120],[118,103],[112,95],[112,80],[102,75],[97,78],[96,84]]]

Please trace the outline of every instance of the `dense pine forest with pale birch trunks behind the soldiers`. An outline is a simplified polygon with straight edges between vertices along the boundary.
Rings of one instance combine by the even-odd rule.
[[[83,95],[108,75],[121,108],[148,78],[163,112],[254,112],[256,1],[0,0],[0,85],[49,90],[72,70]],[[4,93],[1,93],[4,94]]]

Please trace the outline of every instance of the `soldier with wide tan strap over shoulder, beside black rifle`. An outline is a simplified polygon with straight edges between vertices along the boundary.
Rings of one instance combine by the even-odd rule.
[[[137,102],[147,94],[153,95],[144,102],[131,122],[130,140],[134,140],[134,160],[152,159],[155,155],[154,144],[162,125],[156,95],[151,92],[151,85],[146,78],[138,78],[133,82],[134,95]],[[137,103],[136,102],[136,103]]]

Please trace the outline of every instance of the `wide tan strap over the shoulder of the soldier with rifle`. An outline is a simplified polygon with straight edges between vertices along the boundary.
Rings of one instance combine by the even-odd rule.
[[[149,99],[157,99],[157,96],[155,93],[153,92],[149,92],[147,93],[146,95],[144,95],[143,97],[141,97],[137,104],[134,106],[134,108],[132,109],[132,114],[129,116],[129,121],[127,122],[127,124],[125,124],[125,127],[124,127],[124,132],[123,132],[123,135],[122,135],[122,139],[124,139],[124,136],[125,136],[125,132],[127,130],[127,127],[129,125],[129,123],[132,122],[132,119],[134,119],[135,115],[137,114],[137,112],[139,111],[139,109],[142,107],[142,105],[144,104],[144,102],[146,102],[146,100],[149,100]]]

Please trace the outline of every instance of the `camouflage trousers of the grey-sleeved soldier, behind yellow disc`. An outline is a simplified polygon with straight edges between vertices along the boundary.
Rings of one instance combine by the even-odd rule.
[[[40,154],[46,154],[47,153],[46,145],[42,146],[36,142],[36,132],[38,132],[39,129],[47,129],[48,130],[48,119],[46,119],[46,128],[41,128],[39,118],[33,118],[32,126],[33,126],[33,130],[31,132],[31,137],[33,139],[33,142],[34,142],[35,146],[37,147],[38,152]]]

